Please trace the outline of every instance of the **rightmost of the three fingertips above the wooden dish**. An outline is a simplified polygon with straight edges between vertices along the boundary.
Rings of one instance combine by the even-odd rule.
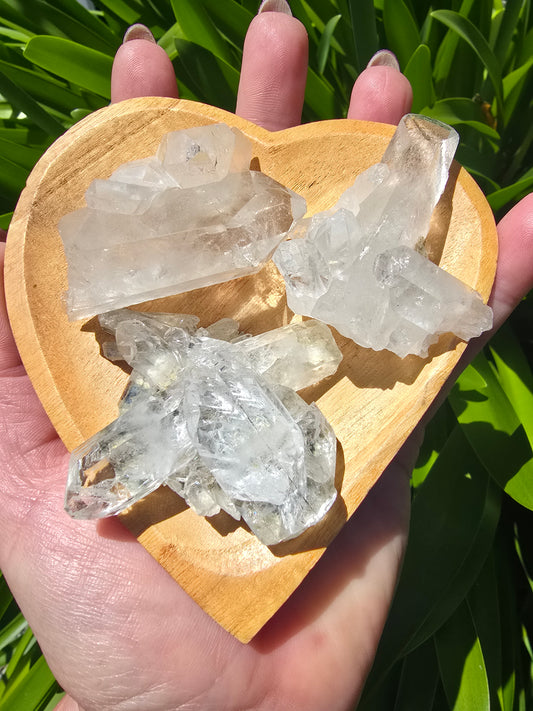
[[[413,90],[400,72],[396,57],[383,50],[357,77],[348,118],[397,124],[411,110],[412,101]]]

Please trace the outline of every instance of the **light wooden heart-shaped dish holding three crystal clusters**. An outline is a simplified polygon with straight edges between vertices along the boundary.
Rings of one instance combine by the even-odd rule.
[[[303,195],[310,213],[330,207],[358,173],[378,162],[394,132],[384,124],[339,120],[270,133],[203,104],[143,98],[102,109],[56,141],[32,172],[11,223],[6,292],[24,365],[69,449],[116,417],[127,373],[102,357],[96,319],[67,320],[62,301],[67,271],[58,220],[84,205],[94,178],[107,178],[122,163],[153,155],[163,134],[214,122],[236,126],[249,136],[252,167]],[[433,261],[486,300],[497,256],[494,220],[468,174],[457,164],[452,172],[434,213],[428,251]],[[272,263],[255,276],[140,308],[196,314],[202,325],[230,316],[253,334],[293,316]],[[338,372],[302,393],[317,402],[338,439],[340,496],[319,525],[293,541],[266,547],[225,515],[197,516],[165,487],[122,515],[179,584],[242,641],[254,636],[320,558],[465,348],[447,335],[429,358],[401,360],[335,335],[344,354]]]

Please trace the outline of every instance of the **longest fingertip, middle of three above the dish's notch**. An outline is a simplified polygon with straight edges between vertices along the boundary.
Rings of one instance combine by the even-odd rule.
[[[284,12],[279,9],[286,7]],[[297,126],[302,118],[308,40],[304,26],[278,2],[263,3],[244,41],[236,113],[269,131]]]

